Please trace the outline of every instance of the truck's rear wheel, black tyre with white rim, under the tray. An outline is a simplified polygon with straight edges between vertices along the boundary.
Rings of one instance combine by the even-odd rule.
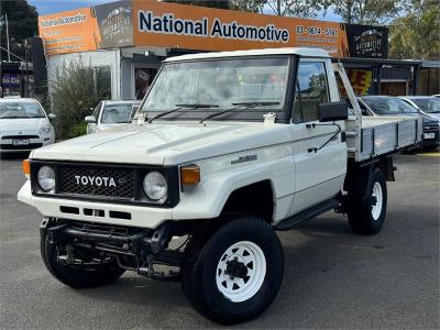
[[[372,235],[380,232],[384,224],[386,178],[380,168],[374,168],[367,179],[356,184],[359,186],[349,191],[349,223],[355,233]]]

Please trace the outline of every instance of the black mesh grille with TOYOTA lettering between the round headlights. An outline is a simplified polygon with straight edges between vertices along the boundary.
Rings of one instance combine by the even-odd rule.
[[[134,199],[134,170],[58,166],[58,194]]]

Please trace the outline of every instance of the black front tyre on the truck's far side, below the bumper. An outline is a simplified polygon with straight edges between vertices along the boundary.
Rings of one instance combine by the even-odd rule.
[[[124,273],[117,263],[108,263],[96,268],[79,268],[63,265],[56,261],[57,252],[48,237],[41,238],[41,254],[47,270],[56,279],[74,288],[88,288],[113,283]]]

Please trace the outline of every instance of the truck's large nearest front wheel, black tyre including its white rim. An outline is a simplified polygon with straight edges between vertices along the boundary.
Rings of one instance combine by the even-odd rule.
[[[272,227],[254,217],[232,219],[195,235],[182,265],[182,286],[205,317],[232,324],[261,315],[283,280],[284,255]]]

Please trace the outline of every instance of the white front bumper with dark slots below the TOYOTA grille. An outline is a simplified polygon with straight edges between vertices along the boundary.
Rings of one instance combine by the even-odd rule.
[[[155,229],[166,220],[173,219],[173,210],[166,208],[34,196],[31,193],[30,180],[20,189],[18,199],[35,207],[47,218],[147,229]]]

